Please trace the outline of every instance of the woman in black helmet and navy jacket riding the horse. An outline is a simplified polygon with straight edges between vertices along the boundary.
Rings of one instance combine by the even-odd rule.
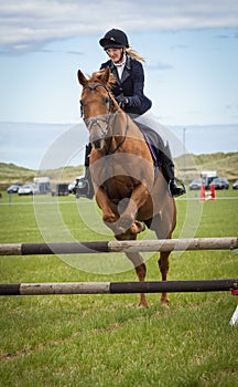
[[[152,102],[143,94],[144,72],[141,62],[144,62],[134,50],[129,46],[128,38],[121,30],[112,29],[108,31],[99,44],[110,57],[109,61],[101,64],[100,69],[110,67],[116,83],[112,93],[123,108],[133,119],[141,116],[151,108]],[[164,145],[161,136],[136,121],[145,139],[156,149],[156,164],[161,166],[163,176],[169,185],[169,191],[172,197],[178,197],[185,194],[185,188],[178,187],[174,177],[174,164],[172,160],[169,145]],[[85,177],[77,181],[75,191],[78,197],[94,197],[94,188],[89,172],[89,156],[91,146],[86,146],[85,155]]]

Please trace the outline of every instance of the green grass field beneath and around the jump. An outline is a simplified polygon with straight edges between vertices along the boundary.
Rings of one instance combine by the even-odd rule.
[[[51,206],[42,200],[52,219]],[[73,196],[57,200],[61,219],[75,239],[105,239],[88,226],[94,221],[90,212],[88,224],[79,217],[78,206],[84,202],[77,205]],[[174,238],[180,238],[186,231],[183,226],[185,218],[190,219],[191,205],[182,199],[176,203]],[[9,202],[2,192],[1,243],[44,240],[44,224],[39,228],[36,223],[35,206],[31,197],[12,195]],[[238,236],[238,191],[217,192],[216,201],[204,205],[197,198],[192,215],[194,208],[198,221],[195,237]],[[154,254],[147,262],[149,281],[160,280],[156,260]],[[94,274],[54,255],[0,257],[0,269],[1,283],[136,281],[133,269]],[[184,252],[172,254],[169,280],[237,274],[235,252]],[[238,326],[229,325],[237,297],[217,292],[172,293],[170,299],[167,312],[160,305],[159,294],[148,294],[147,310],[137,306],[138,294],[2,296],[0,386],[237,386]]]

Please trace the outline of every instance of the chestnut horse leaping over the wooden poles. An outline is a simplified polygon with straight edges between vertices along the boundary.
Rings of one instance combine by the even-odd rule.
[[[78,71],[83,86],[80,109],[89,130],[90,176],[96,202],[102,220],[117,240],[136,240],[145,224],[158,239],[172,238],[176,224],[176,207],[169,195],[162,172],[155,174],[154,161],[142,132],[118,105],[111,87],[109,67],[87,79]],[[147,268],[139,252],[126,252],[133,263],[139,281],[144,281]],[[161,252],[159,268],[166,281],[170,252]],[[169,306],[169,296],[161,302]],[[140,305],[148,306],[145,294]]]

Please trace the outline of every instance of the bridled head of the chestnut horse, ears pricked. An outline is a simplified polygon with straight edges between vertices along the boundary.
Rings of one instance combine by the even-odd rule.
[[[89,130],[89,142],[96,149],[104,147],[110,122],[119,108],[111,93],[115,83],[110,69],[93,73],[89,79],[78,70],[78,81],[83,86],[80,111]]]

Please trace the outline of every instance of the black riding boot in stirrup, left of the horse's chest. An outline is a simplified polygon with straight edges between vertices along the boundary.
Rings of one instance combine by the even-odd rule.
[[[88,199],[94,198],[94,186],[91,184],[90,178],[90,169],[89,169],[89,157],[91,151],[91,145],[86,145],[85,150],[85,176],[80,179],[77,179],[76,186],[73,189],[73,192],[77,198],[84,197]]]

